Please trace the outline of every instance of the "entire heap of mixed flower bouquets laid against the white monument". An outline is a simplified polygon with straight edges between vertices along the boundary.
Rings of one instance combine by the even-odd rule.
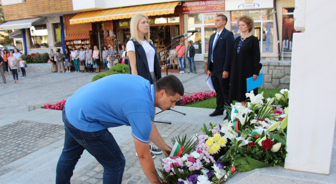
[[[263,93],[246,93],[250,102],[225,107],[229,117],[223,124],[210,123],[210,129],[204,124],[204,133],[187,143],[186,136],[173,138],[172,151],[166,151],[170,157],[162,159],[158,169],[160,180],[166,184],[222,183],[236,170],[284,166],[289,91],[280,93],[272,99],[264,99]]]

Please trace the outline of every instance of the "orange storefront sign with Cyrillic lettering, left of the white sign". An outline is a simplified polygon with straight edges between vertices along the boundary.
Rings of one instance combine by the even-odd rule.
[[[225,11],[224,0],[194,1],[183,3],[183,13],[204,13]]]

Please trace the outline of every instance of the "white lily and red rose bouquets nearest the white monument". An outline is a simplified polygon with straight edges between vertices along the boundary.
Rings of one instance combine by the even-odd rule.
[[[249,171],[265,166],[283,166],[286,157],[286,127],[288,122],[288,93],[283,97],[267,99],[262,94],[246,93],[251,102],[231,104],[229,120],[224,122],[221,132],[231,139],[225,157],[231,157],[238,171]],[[275,104],[273,104],[275,102]],[[283,104],[283,105],[279,105]],[[284,109],[282,108],[284,107]]]

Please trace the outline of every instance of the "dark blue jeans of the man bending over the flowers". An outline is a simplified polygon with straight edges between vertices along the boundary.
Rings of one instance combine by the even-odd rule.
[[[112,134],[107,130],[81,131],[67,119],[63,108],[65,126],[64,148],[56,168],[56,183],[70,184],[70,178],[84,149],[104,167],[103,183],[121,183],[125,157]]]

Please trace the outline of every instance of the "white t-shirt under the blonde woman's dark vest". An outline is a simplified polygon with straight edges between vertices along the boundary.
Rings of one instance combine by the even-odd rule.
[[[153,72],[154,71],[155,50],[147,43],[147,41],[141,41],[141,43],[142,43],[142,47],[144,49],[144,52],[146,53],[149,72]],[[127,42],[126,50],[127,50],[127,52],[128,51],[134,51],[135,52],[133,41],[130,40],[130,41]]]

